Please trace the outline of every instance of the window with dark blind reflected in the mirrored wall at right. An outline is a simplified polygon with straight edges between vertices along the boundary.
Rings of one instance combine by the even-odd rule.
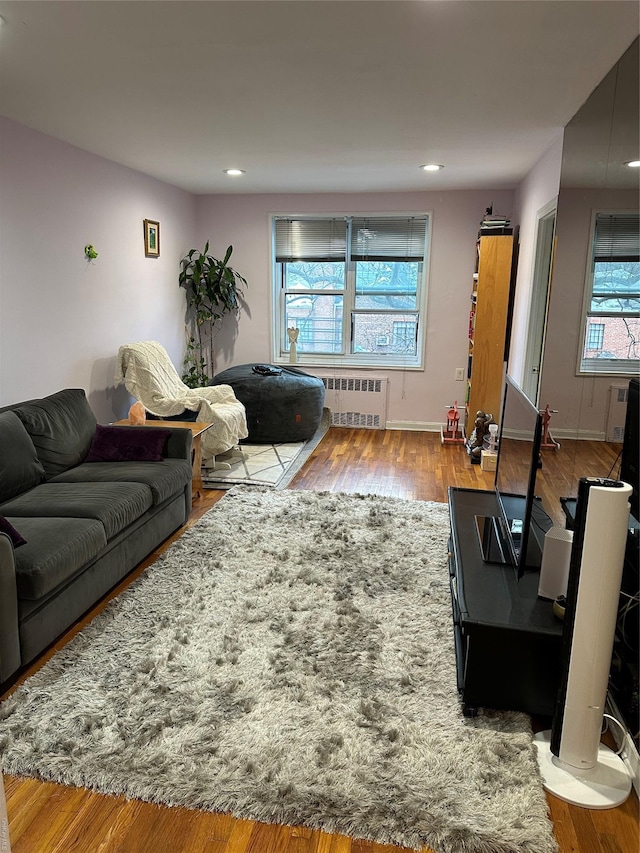
[[[637,373],[640,366],[640,216],[594,216],[585,293],[581,373]]]

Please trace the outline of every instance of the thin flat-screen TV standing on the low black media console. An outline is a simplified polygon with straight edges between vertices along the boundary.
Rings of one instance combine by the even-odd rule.
[[[513,566],[518,578],[540,568],[544,528],[541,501],[535,496],[540,467],[542,415],[518,383],[506,377],[498,439],[495,490],[497,516],[477,516],[483,557]]]

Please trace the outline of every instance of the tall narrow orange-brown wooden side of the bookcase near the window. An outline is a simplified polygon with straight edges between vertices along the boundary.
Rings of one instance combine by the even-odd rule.
[[[484,235],[476,246],[469,315],[469,363],[467,370],[467,436],[476,412],[490,412],[500,420],[502,371],[509,311],[513,233]]]

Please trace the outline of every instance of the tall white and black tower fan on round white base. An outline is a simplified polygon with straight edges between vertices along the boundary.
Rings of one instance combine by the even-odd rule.
[[[561,684],[551,731],[535,738],[546,790],[591,809],[618,806],[631,791],[624,761],[600,735],[632,491],[619,480],[579,481]]]

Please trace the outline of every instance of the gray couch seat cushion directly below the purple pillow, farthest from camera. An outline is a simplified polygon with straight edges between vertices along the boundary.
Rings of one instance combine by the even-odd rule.
[[[192,469],[186,459],[163,462],[85,462],[49,480],[49,483],[146,483],[154,506],[184,489]]]

